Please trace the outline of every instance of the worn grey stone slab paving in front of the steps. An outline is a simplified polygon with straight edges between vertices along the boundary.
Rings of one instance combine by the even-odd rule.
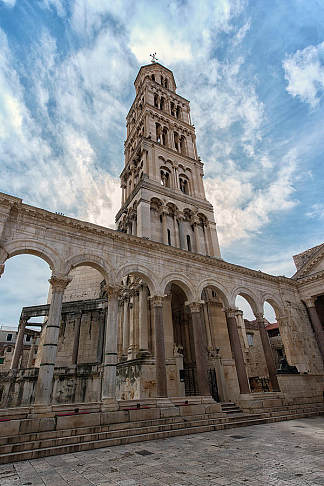
[[[324,417],[2,465],[0,485],[324,485]]]

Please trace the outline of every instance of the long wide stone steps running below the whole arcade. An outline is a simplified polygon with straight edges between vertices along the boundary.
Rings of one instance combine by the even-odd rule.
[[[282,407],[278,410],[254,414],[243,413],[232,403],[224,404],[224,408],[226,411],[222,413],[178,415],[8,435],[0,438],[0,464],[179,435],[291,420],[323,413],[321,404],[304,405],[294,409]],[[91,424],[90,416],[89,424]]]

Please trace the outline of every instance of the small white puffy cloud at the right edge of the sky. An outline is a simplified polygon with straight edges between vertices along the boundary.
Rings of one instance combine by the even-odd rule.
[[[315,108],[324,89],[324,42],[288,56],[283,68],[288,93]]]

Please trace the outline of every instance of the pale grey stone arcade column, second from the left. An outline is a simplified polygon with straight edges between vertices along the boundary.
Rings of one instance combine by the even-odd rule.
[[[102,378],[102,401],[116,401],[116,366],[117,366],[117,335],[118,335],[118,294],[120,287],[106,286],[108,294],[108,312],[106,319],[105,357]]]

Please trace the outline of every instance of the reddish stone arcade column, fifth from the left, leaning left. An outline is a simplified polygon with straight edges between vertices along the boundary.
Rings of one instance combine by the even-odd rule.
[[[250,385],[245,369],[240,337],[237,330],[237,324],[235,319],[236,311],[237,309],[226,309],[225,314],[231,349],[235,361],[237,379],[240,386],[240,392],[243,394],[250,393]]]

